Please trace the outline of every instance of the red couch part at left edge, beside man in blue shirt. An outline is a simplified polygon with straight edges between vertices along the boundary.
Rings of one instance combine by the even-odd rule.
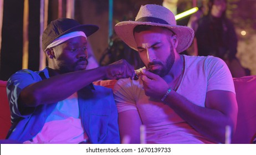
[[[11,127],[11,113],[6,93],[7,81],[0,80],[0,139],[6,138],[9,128]]]

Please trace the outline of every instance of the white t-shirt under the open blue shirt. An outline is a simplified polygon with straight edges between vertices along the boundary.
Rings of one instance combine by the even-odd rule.
[[[80,143],[88,141],[79,118],[78,94],[75,92],[63,101],[59,101],[53,112],[47,117],[42,130],[32,141],[24,143]]]

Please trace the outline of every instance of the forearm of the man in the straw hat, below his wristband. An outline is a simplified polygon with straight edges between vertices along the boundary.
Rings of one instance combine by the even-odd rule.
[[[225,129],[234,123],[226,112],[214,108],[201,107],[172,91],[165,102],[196,131],[217,143],[224,143]]]

